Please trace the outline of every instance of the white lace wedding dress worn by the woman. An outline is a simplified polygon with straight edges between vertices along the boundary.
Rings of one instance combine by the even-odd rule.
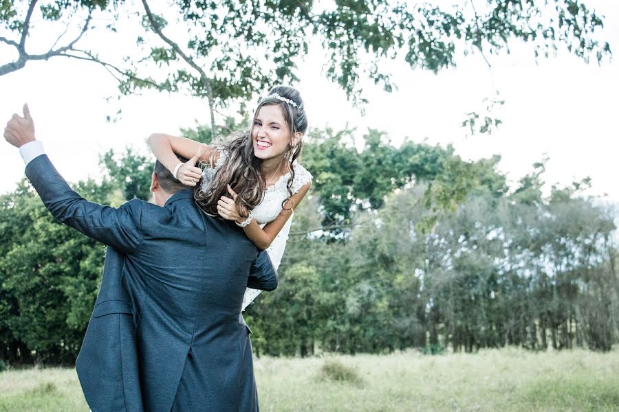
[[[213,181],[213,176],[217,173],[217,170],[221,168],[221,165],[226,161],[226,153],[221,152],[219,155],[219,159],[215,163],[215,167],[206,168],[202,172],[202,190],[206,190],[211,181]],[[307,182],[312,180],[312,174],[308,172],[302,165],[298,163],[294,163],[294,181],[292,182],[292,194],[296,194],[301,187],[305,185]],[[290,179],[290,173],[284,174],[276,181],[273,185],[267,187],[264,192],[264,197],[262,201],[254,207],[254,219],[260,227],[264,227],[268,222],[274,220],[279,213],[281,212],[281,204],[288,197],[287,183],[288,179]],[[290,233],[290,225],[292,225],[292,217],[294,216],[294,212],[290,215],[285,225],[281,228],[281,231],[275,236],[275,239],[271,243],[270,247],[266,249],[269,254],[269,258],[275,270],[279,268],[279,264],[281,262],[281,258],[283,256],[284,249],[286,247],[286,242],[288,240],[288,233]],[[243,297],[243,310],[247,308],[249,304],[256,299],[262,290],[247,288],[245,291],[245,296]]]

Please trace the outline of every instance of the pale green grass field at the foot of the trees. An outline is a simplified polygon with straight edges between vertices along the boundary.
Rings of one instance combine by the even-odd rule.
[[[327,365],[327,367],[325,367]],[[619,411],[619,347],[259,358],[261,411]],[[87,412],[74,369],[0,373],[0,411]]]

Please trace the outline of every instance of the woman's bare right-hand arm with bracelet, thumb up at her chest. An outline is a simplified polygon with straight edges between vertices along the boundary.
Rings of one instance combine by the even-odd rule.
[[[311,181],[305,183],[305,185],[301,186],[301,189],[298,192],[296,192],[290,197],[290,199],[292,200],[292,205],[294,205],[293,207],[297,207],[298,204],[301,203],[301,201],[305,197],[305,194],[307,194],[307,191],[310,190],[311,186]],[[232,189],[230,189],[229,187],[228,191],[230,191],[230,194],[232,194],[232,196],[236,196],[234,192],[231,192]],[[236,220],[239,223],[243,222],[243,220],[246,219],[242,216],[239,216],[236,203],[232,200],[232,198],[221,196],[221,199],[219,199],[217,204],[222,207],[222,209],[219,210],[219,216],[221,216],[222,218],[226,218],[228,220]],[[249,225],[243,227],[243,230],[245,231],[247,237],[250,238],[252,243],[256,245],[258,249],[264,250],[270,247],[271,243],[275,239],[275,236],[277,236],[277,234],[286,224],[287,220],[290,218],[290,215],[292,215],[292,211],[292,209],[282,209],[282,211],[279,212],[279,215],[277,215],[274,220],[268,222],[262,228],[260,227],[260,225],[258,225],[258,222],[256,222],[256,220],[252,220]]]

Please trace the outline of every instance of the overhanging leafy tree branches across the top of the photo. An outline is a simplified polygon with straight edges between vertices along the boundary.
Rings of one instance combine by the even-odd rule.
[[[34,35],[35,12],[56,22],[58,33],[66,32],[75,16],[82,16],[83,25],[69,43],[56,47],[63,32],[47,52],[32,54],[26,42]],[[93,15],[118,20],[120,14],[142,23],[143,30],[133,39],[137,49],[124,62],[101,58],[102,49],[78,47],[94,28]],[[591,56],[601,62],[610,54],[609,44],[596,38],[602,18],[574,0],[541,5],[532,0],[489,0],[483,6],[466,2],[451,8],[393,0],[338,0],[335,8],[319,8],[311,0],[175,0],[171,8],[159,11],[146,0],[135,8],[122,0],[39,5],[37,0],[22,0],[0,3],[0,23],[6,31],[0,42],[17,53],[17,59],[0,62],[0,76],[30,60],[62,56],[96,62],[116,77],[121,94],[155,88],[206,98],[215,135],[218,107],[250,100],[272,84],[296,82],[297,65],[310,41],[325,50],[327,78],[356,104],[365,102],[362,79],[386,91],[395,88],[383,68],[386,60],[404,60],[413,69],[436,73],[455,66],[459,52],[480,52],[485,58],[486,53],[509,50],[511,41],[530,43],[536,58],[560,46],[587,62]],[[182,34],[170,34],[179,24]],[[105,28],[118,34],[117,26],[110,23]]]

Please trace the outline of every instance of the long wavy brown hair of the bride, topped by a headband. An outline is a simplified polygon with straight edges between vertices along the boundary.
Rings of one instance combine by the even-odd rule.
[[[285,152],[286,168],[290,172],[290,179],[287,181],[288,197],[283,201],[282,208],[290,209],[292,205],[292,182],[294,182],[293,163],[301,155],[303,139],[294,141],[292,137],[300,132],[305,135],[307,131],[307,117],[305,106],[301,99],[301,94],[292,87],[278,86],[271,89],[268,95],[277,93],[283,98],[292,100],[298,107],[279,100],[278,98],[265,98],[261,100],[254,111],[249,129],[243,133],[232,135],[230,141],[218,145],[220,152],[226,152],[226,160],[221,165],[219,171],[213,177],[210,185],[202,190],[200,185],[196,186],[193,193],[195,203],[200,209],[210,216],[217,216],[217,201],[221,196],[230,196],[227,185],[232,187],[237,193],[237,207],[241,216],[247,217],[249,211],[254,209],[261,201],[266,190],[266,180],[260,171],[261,159],[254,156],[254,146],[252,141],[252,128],[256,121],[256,116],[262,106],[275,105],[281,108],[281,113],[290,130],[290,143]],[[209,159],[210,166],[213,165],[213,155]]]

